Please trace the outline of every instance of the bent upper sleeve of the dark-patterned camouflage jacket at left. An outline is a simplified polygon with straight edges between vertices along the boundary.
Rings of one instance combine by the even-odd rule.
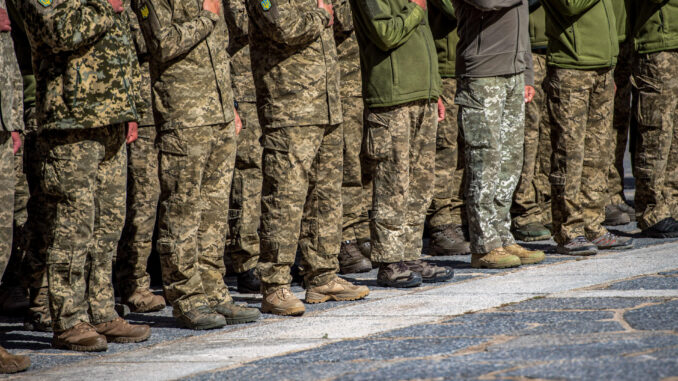
[[[47,7],[25,0],[23,5],[32,16],[32,34],[54,53],[91,45],[113,26],[115,17],[106,0],[62,0]]]

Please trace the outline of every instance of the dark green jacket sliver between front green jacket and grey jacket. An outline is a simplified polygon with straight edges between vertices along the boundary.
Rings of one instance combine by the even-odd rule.
[[[438,52],[438,70],[443,78],[454,78],[454,66],[457,58],[457,17],[450,0],[431,0],[429,2],[428,22]]]

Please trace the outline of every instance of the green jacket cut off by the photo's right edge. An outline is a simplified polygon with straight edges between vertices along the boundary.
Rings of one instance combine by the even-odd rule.
[[[641,54],[678,48],[678,0],[633,2],[633,43]]]

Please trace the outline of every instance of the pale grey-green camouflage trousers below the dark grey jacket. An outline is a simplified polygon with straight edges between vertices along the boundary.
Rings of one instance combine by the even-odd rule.
[[[524,89],[522,74],[459,80],[472,253],[515,243],[510,208],[523,164]]]

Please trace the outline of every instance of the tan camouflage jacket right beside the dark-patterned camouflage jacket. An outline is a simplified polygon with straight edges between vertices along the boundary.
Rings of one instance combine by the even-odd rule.
[[[132,0],[151,54],[153,110],[160,130],[234,119],[228,31],[201,0]]]

